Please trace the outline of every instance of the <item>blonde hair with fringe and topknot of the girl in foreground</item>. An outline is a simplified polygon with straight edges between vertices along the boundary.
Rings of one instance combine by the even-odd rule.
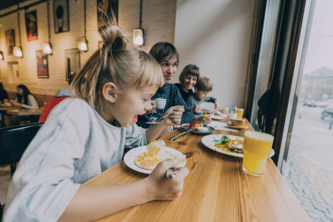
[[[164,85],[159,63],[135,49],[126,32],[110,21],[99,30],[103,47],[94,52],[71,84],[73,97],[84,99],[97,111],[102,111],[102,88],[106,82],[113,82],[119,94],[133,87]]]

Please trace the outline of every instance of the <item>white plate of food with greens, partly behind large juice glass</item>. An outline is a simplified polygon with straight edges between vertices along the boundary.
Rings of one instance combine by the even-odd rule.
[[[225,134],[214,134],[207,135],[201,139],[203,145],[207,148],[213,149],[214,151],[229,155],[243,158],[243,142],[244,137],[225,135]],[[271,149],[269,157],[274,155],[274,150]]]

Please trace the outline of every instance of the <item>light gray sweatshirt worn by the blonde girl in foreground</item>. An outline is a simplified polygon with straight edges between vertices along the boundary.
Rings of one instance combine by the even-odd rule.
[[[4,222],[57,221],[81,183],[147,144],[146,129],[116,127],[81,99],[65,99],[25,150],[9,186]]]

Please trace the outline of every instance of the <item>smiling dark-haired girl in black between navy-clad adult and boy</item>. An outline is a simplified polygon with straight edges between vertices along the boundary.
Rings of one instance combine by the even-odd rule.
[[[180,95],[185,102],[187,102],[189,96],[194,94],[192,88],[195,86],[196,81],[199,77],[199,68],[193,64],[185,66],[185,68],[179,75],[180,83],[175,83],[174,85],[177,86]]]

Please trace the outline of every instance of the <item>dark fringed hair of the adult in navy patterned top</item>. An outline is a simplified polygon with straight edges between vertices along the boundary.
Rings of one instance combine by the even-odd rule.
[[[161,63],[165,58],[171,58],[173,56],[177,57],[177,62],[179,62],[179,54],[177,49],[168,42],[158,42],[149,51],[154,59]],[[178,66],[178,65],[177,65]]]

